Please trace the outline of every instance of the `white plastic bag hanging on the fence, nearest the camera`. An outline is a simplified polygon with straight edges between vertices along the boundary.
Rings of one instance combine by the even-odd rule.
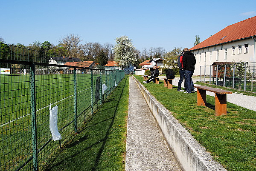
[[[55,105],[51,108],[52,103],[50,104],[50,130],[52,133],[52,140],[57,141],[61,140],[61,134],[58,132],[58,106]]]

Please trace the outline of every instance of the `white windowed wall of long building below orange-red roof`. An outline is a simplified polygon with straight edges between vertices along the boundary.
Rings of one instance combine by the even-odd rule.
[[[248,44],[248,53],[245,53],[244,45]],[[241,54],[239,54],[238,46],[241,45]],[[232,47],[235,46],[235,54],[233,54]],[[225,60],[225,48],[227,48],[227,59]],[[218,50],[218,58],[217,58]],[[212,59],[210,59],[210,52],[212,51]],[[199,50],[191,51],[195,54],[196,64],[194,75],[200,74],[200,66],[210,66],[214,62],[256,62],[254,59],[254,40],[248,38],[245,40],[239,40],[236,42],[225,43],[223,45],[212,46],[209,48],[203,48]],[[206,57],[204,57],[206,52]]]

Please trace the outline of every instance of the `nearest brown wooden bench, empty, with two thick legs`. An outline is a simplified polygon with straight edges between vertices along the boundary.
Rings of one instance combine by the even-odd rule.
[[[194,87],[197,88],[197,105],[205,106],[206,91],[211,91],[215,93],[215,116],[227,115],[227,94],[232,94],[232,91],[221,90],[204,85],[196,85]]]

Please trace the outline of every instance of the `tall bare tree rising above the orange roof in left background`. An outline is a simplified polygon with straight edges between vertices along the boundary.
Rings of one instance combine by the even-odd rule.
[[[65,48],[69,57],[77,57],[78,52],[82,48],[82,45],[79,44],[81,41],[80,36],[69,34],[62,37],[61,40],[59,40],[59,43]]]

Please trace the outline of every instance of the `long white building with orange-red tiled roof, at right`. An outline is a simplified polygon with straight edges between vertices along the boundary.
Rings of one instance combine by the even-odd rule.
[[[253,63],[255,73],[256,16],[227,26],[218,33],[189,49],[195,54],[195,75],[200,66],[211,66],[214,62]]]

